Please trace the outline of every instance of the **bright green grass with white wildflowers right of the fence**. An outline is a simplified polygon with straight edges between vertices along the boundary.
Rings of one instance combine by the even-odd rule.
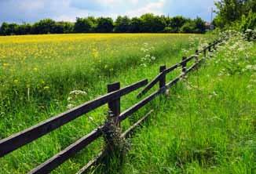
[[[236,34],[156,100],[122,173],[255,173],[255,48]]]

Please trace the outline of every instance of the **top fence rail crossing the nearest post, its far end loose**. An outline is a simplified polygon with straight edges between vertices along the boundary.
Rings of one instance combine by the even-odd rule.
[[[27,143],[30,143],[33,140],[38,139],[41,136],[46,135],[49,132],[52,132],[54,129],[59,128],[60,126],[68,123],[69,121],[78,118],[82,114],[86,114],[90,111],[93,111],[97,107],[101,107],[105,103],[108,103],[110,100],[115,100],[120,96],[124,96],[136,89],[141,88],[146,85],[148,80],[145,79],[141,82],[134,83],[133,85],[127,86],[126,88],[119,89],[115,92],[108,93],[104,96],[100,96],[99,98],[89,101],[80,105],[79,107],[75,107],[70,111],[64,112],[62,114],[57,115],[56,117],[49,118],[38,125],[35,125],[29,129],[26,129],[22,132],[19,132],[13,136],[9,136],[4,140],[0,140],[0,157],[8,154],[9,152],[16,150],[19,147],[24,146]]]

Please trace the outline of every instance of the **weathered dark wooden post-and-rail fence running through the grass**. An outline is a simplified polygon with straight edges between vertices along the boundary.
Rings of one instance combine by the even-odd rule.
[[[207,57],[207,51],[212,52],[216,49],[216,45],[221,43],[223,38],[216,40],[213,43],[210,43],[207,47],[203,50],[196,50],[196,54],[190,57],[182,57],[180,63],[174,64],[174,66],[166,68],[166,66],[161,66],[159,68],[159,74],[152,80],[152,82],[148,83],[147,79],[142,80],[141,82],[136,82],[132,85],[126,86],[123,89],[120,89],[120,83],[116,82],[113,84],[108,85],[108,93],[104,96],[100,96],[95,100],[91,100],[89,102],[83,103],[79,107],[75,107],[69,111],[66,111],[62,114],[59,114],[53,118],[49,118],[46,121],[42,121],[38,125],[34,125],[29,129],[25,129],[22,132],[18,132],[12,136],[9,136],[3,140],[0,140],[0,158],[5,156],[5,154],[11,153],[13,150],[18,149],[26,145],[27,143],[31,143],[34,140],[37,140],[41,136],[45,136],[49,132],[52,132],[55,129],[60,128],[60,126],[67,124],[68,122],[74,120],[75,118],[79,118],[82,115],[93,111],[97,107],[101,107],[104,104],[108,103],[109,111],[112,111],[112,118],[115,121],[115,125],[120,127],[121,122],[128,118],[130,115],[138,111],[141,107],[144,107],[147,103],[152,101],[156,96],[163,94],[166,92],[166,89],[170,89],[173,85],[181,80],[188,72],[192,71],[195,67],[199,66],[205,58]],[[203,54],[203,58],[199,59],[199,55]],[[195,60],[195,63],[192,64],[191,67],[187,67],[187,63],[191,60]],[[177,78],[174,78],[169,83],[166,83],[166,74],[169,74],[171,71],[177,69],[177,67],[182,67],[182,72]],[[138,98],[141,98],[149,89],[159,82],[159,89],[149,96],[145,97],[140,102],[134,104],[132,107],[123,111],[121,113],[120,110],[120,99],[122,96],[129,94],[141,87],[145,86],[144,89],[139,92],[137,95]],[[127,129],[123,134],[122,137],[127,137],[133,132],[133,129],[136,129],[138,125],[141,125],[141,122],[145,121],[146,118],[152,113],[149,111],[143,118],[137,121],[134,125],[132,125],[129,129]],[[35,169],[31,170],[29,173],[49,173],[56,169],[59,165],[67,161],[68,158],[71,158],[74,154],[78,153],[80,150],[88,146],[94,140],[97,140],[100,136],[103,136],[104,129],[106,125],[101,125],[96,129],[93,129],[92,132],[83,136],[81,139],[77,140],[75,143],[72,143],[70,146],[66,147],[64,150],[61,150],[58,154],[54,155],[52,158],[49,158],[47,161],[38,165]],[[97,157],[93,158],[92,161],[87,163],[78,173],[87,172],[88,169],[92,165],[97,164],[105,155],[108,155],[107,150],[102,150]]]

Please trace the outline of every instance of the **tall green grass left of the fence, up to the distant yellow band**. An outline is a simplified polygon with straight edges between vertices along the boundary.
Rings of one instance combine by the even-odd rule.
[[[184,53],[189,55],[199,42],[208,38],[207,35],[194,34],[127,34],[124,38],[109,37],[91,42],[86,39],[55,42],[53,37],[45,42],[39,40],[1,45],[1,50],[6,52],[1,61],[9,63],[9,69],[1,69],[3,85],[0,96],[3,100],[0,105],[0,138],[66,111],[70,104],[74,107],[104,94],[108,83],[119,81],[125,86],[143,78],[152,79],[160,65],[177,63]],[[93,50],[95,48],[97,51]],[[18,53],[13,53],[13,50]],[[149,59],[146,57],[148,54]],[[24,60],[24,56],[30,58]],[[83,94],[72,99],[69,93],[74,90],[82,90]],[[123,97],[123,110],[137,102],[135,96],[136,92],[133,92]],[[144,114],[148,108],[137,114]],[[33,169],[100,125],[107,111],[107,106],[101,107],[6,155],[0,159],[0,173],[25,173]],[[123,128],[132,122],[133,119],[125,121]],[[93,143],[53,173],[78,171],[103,146],[102,140]]]

